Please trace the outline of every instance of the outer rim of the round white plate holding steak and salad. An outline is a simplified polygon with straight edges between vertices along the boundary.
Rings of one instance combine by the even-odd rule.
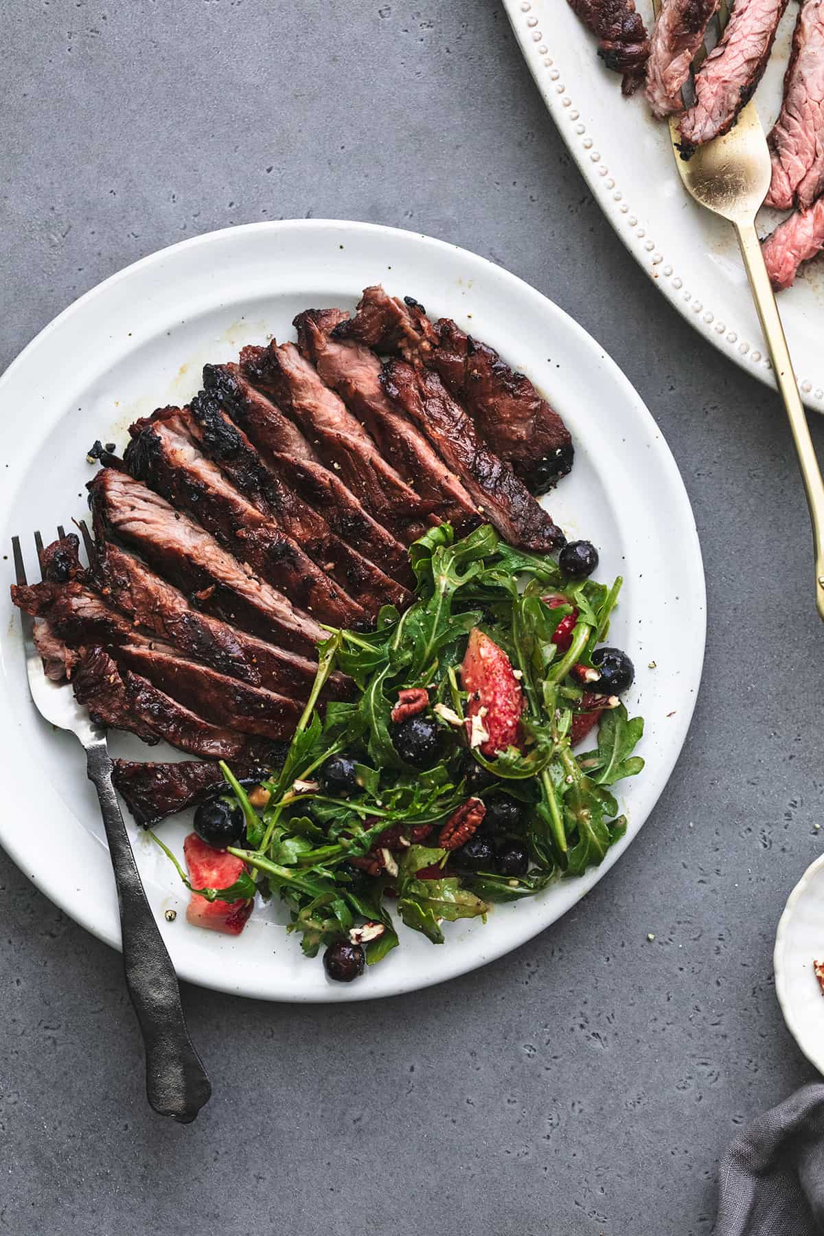
[[[406,229],[389,227],[383,224],[362,222],[356,220],[335,220],[335,219],[266,220],[261,222],[237,225],[233,227],[217,229],[210,232],[204,232],[199,236],[187,237],[183,241],[178,241],[164,248],[157,250],[153,253],[146,255],[137,262],[130,263],[122,269],[109,276],[106,279],[101,281],[95,287],[88,289],[77,300],[67,305],[65,309],[63,309],[59,314],[57,314],[56,318],[53,318],[41,331],[38,331],[38,334],[17,353],[17,356],[11,361],[5,372],[0,376],[0,397],[4,394],[5,387],[14,378],[17,367],[25,363],[25,360],[31,353],[31,351],[42,345],[43,341],[48,340],[49,336],[59,329],[59,325],[67,318],[69,318],[75,313],[82,311],[91,300],[94,300],[98,297],[105,295],[107,289],[127,279],[135,272],[142,271],[151,265],[159,265],[169,256],[182,250],[191,250],[198,247],[208,248],[208,246],[211,243],[225,241],[227,237],[236,236],[240,234],[243,235],[248,235],[252,232],[273,234],[288,230],[299,230],[310,232],[310,231],[322,231],[326,229],[334,229],[336,235],[341,232],[355,231],[361,234],[372,234],[373,236],[383,237],[384,240],[387,237],[389,240],[392,240],[392,237],[399,237],[403,239],[404,241],[411,240],[415,243],[423,243],[425,247],[432,248],[435,251],[446,250],[450,251],[452,255],[457,253],[463,260],[467,260],[472,263],[479,263],[482,267],[488,268],[494,279],[503,279],[504,282],[508,282],[510,286],[514,284],[520,290],[521,294],[526,294],[528,297],[535,298],[537,302],[542,303],[545,307],[545,311],[550,311],[551,314],[557,315],[565,323],[565,326],[573,335],[577,335],[578,339],[586,346],[597,349],[602,363],[605,367],[608,381],[624,389],[628,399],[635,405],[634,410],[636,415],[640,418],[640,421],[657,439],[656,466],[658,471],[663,470],[663,480],[666,481],[667,488],[670,489],[671,499],[683,515],[683,530],[691,543],[689,561],[692,566],[692,572],[694,575],[694,580],[692,581],[694,585],[693,597],[697,602],[700,619],[698,623],[694,624],[694,634],[698,638],[693,644],[692,664],[689,666],[689,674],[688,674],[688,681],[692,685],[692,690],[684,705],[679,708],[678,722],[673,724],[673,729],[676,730],[676,743],[672,748],[673,754],[671,754],[666,761],[666,769],[667,769],[666,776],[663,776],[663,779],[661,780],[657,792],[649,803],[641,823],[637,824],[636,828],[634,828],[631,834],[623,843],[619,843],[619,845],[613,847],[613,849],[608,853],[604,861],[598,868],[591,869],[586,875],[577,878],[576,881],[577,896],[574,896],[570,901],[566,908],[560,910],[557,913],[553,915],[552,918],[545,921],[535,931],[523,936],[523,938],[515,939],[514,942],[504,939],[504,943],[500,947],[495,947],[495,944],[490,941],[492,947],[486,948],[483,955],[479,957],[478,959],[471,959],[468,962],[462,960],[461,947],[460,943],[456,941],[453,942],[453,948],[450,949],[448,953],[450,964],[439,969],[437,974],[424,978],[419,976],[413,980],[404,980],[400,976],[399,971],[399,976],[392,990],[380,993],[373,993],[369,990],[358,991],[357,990],[358,985],[356,984],[352,988],[342,985],[341,986],[330,985],[330,989],[327,991],[324,991],[324,994],[293,991],[292,989],[284,990],[283,993],[279,994],[272,994],[272,991],[250,990],[242,985],[238,986],[237,983],[232,984],[230,981],[230,976],[227,976],[225,980],[221,979],[220,974],[205,976],[200,971],[195,973],[196,967],[190,968],[188,964],[188,959],[185,957],[183,959],[175,959],[177,970],[182,979],[185,979],[188,981],[195,983],[201,986],[208,986],[211,990],[221,990],[229,994],[245,995],[252,999],[264,999],[279,1002],[326,1004],[326,1002],[351,1001],[351,1000],[383,999],[387,996],[400,995],[408,991],[423,990],[426,986],[447,981],[465,973],[469,973],[471,970],[477,969],[487,964],[488,962],[495,960],[497,958],[508,954],[513,949],[520,947],[528,939],[534,938],[541,931],[545,931],[560,917],[563,917],[563,915],[567,913],[574,905],[577,905],[581,901],[581,899],[586,896],[586,894],[594,886],[594,884],[597,884],[609,871],[613,863],[620,858],[620,855],[626,849],[628,844],[630,844],[631,840],[635,838],[635,836],[637,836],[637,833],[640,832],[642,823],[645,823],[646,818],[649,818],[649,815],[657,803],[660,795],[663,792],[663,789],[668,784],[672,771],[683,750],[689,723],[692,721],[692,714],[697,702],[698,691],[700,687],[700,676],[702,676],[703,658],[705,650],[705,632],[707,632],[705,577],[704,577],[700,544],[698,539],[698,531],[696,528],[692,504],[689,502],[687,488],[684,486],[681,471],[672,455],[672,451],[670,450],[670,446],[663,434],[657,426],[655,419],[652,418],[641,396],[635,389],[633,383],[629,381],[626,375],[620,370],[618,363],[612,358],[612,356],[602,347],[600,344],[598,344],[598,341],[579,323],[577,323],[568,313],[566,313],[566,310],[563,310],[560,305],[557,305],[549,297],[544,295],[544,293],[539,292],[539,289],[534,288],[526,281],[521,279],[519,276],[513,274],[510,271],[498,266],[494,262],[490,262],[488,258],[484,258],[478,253],[473,253],[472,251],[466,250],[462,246],[455,245],[448,241],[442,241],[436,237],[427,236],[421,232],[410,231]],[[104,941],[111,947],[120,948],[119,939],[114,938],[110,934],[110,932],[107,932],[91,915],[88,915],[85,918],[78,917],[78,908],[82,907],[78,907],[77,902],[72,901],[72,897],[69,896],[68,892],[64,894],[59,885],[54,886],[52,881],[44,879],[40,869],[37,869],[36,871],[30,870],[31,863],[26,855],[25,843],[16,845],[14,837],[10,838],[9,836],[4,836],[0,839],[0,844],[11,857],[15,864],[28,876],[28,879],[31,879],[32,883],[36,884],[36,886],[54,905],[62,908],[73,921],[78,922],[79,926],[84,927],[86,931],[90,931],[99,939]],[[167,937],[167,944],[172,946],[172,941],[169,941],[168,937]]]

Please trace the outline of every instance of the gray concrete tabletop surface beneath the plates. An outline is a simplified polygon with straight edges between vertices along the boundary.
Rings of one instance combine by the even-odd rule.
[[[824,836],[823,633],[775,397],[628,257],[492,0],[7,0],[5,19],[0,363],[214,227],[315,215],[456,241],[557,300],[657,417],[709,644],[676,774],[576,911],[379,1004],[187,989],[215,1083],[188,1128],[145,1105],[119,957],[0,857],[0,1232],[712,1231],[719,1153],[810,1077],[771,952]]]

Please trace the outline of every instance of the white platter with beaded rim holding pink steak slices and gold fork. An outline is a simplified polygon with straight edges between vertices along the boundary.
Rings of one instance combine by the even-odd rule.
[[[558,132],[607,219],[663,295],[741,368],[775,386],[759,318],[733,229],[698,206],[676,171],[666,124],[637,91],[623,99],[620,78],[604,68],[566,0],[504,0],[524,58]],[[650,0],[636,0],[647,30]],[[781,109],[782,79],[797,6],[783,16],[759,85],[759,115],[770,130]],[[762,210],[761,235],[782,215]],[[593,255],[593,262],[598,255]],[[824,265],[808,263],[778,297],[804,403],[824,412]]]

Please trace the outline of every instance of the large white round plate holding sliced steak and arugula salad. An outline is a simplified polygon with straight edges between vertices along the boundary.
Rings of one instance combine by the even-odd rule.
[[[85,454],[95,438],[122,446],[136,417],[196,392],[205,361],[230,360],[243,344],[273,334],[292,337],[292,319],[310,305],[353,309],[361,289],[378,281],[499,349],[572,430],[576,466],[550,506],[570,534],[599,546],[599,577],[626,578],[610,638],[637,666],[628,706],[646,717],[647,766],[620,786],[628,836],[599,869],[495,908],[486,926],[455,925],[445,946],[404,931],[401,948],[351,985],[330,984],[320,962],[301,955],[280,926],[282,907],[256,908],[237,939],[190,927],[178,876],[132,827],[178,973],[247,996],[359,1000],[409,991],[500,957],[555,922],[650,813],[681,751],[700,677],[704,578],[696,527],[676,464],[636,392],[581,326],[520,279],[465,250],[389,227],[322,220],[232,227],[154,253],[82,297],[0,379],[11,482],[0,498],[4,544],[35,528],[51,535],[57,523],[83,515],[84,483],[94,472]],[[0,750],[7,772],[0,842],[48,897],[117,946],[114,884],[83,754],[35,713],[7,593],[2,604]],[[647,669],[652,661],[657,667]],[[168,758],[124,735],[111,735],[111,745],[142,759]],[[187,831],[182,818],[162,826],[177,853]],[[163,911],[172,907],[178,917],[169,925]]]

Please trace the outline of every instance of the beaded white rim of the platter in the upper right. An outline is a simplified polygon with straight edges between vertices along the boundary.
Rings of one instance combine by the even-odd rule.
[[[713,325],[717,318],[715,314],[710,311],[710,320],[705,321],[704,313],[693,311],[693,297],[689,288],[686,287],[681,274],[666,261],[662,247],[650,239],[647,227],[626,226],[628,213],[629,218],[635,220],[635,225],[640,221],[637,218],[640,213],[636,209],[633,210],[629,208],[626,198],[618,187],[614,171],[607,167],[600,153],[598,153],[602,148],[609,148],[609,142],[605,146],[597,142],[593,137],[592,125],[587,127],[579,119],[578,110],[574,108],[566,84],[557,82],[561,75],[557,62],[553,59],[557,53],[552,48],[550,54],[550,48],[547,47],[551,43],[552,35],[545,36],[537,28],[537,19],[532,12],[534,0],[503,0],[503,5],[526,67],[544,99],[546,110],[572,154],[578,171],[592,190],[592,195],[602,214],[612,225],[618,239],[635,258],[650,282],[677,309],[684,321],[688,321],[699,335],[708,340],[723,356],[734,361],[745,373],[750,373],[765,386],[777,391],[772,363],[763,340],[759,341],[757,349],[747,345],[746,352],[742,352],[741,341],[746,337],[747,330],[736,330],[726,321],[724,332],[719,334]],[[586,37],[583,30],[581,35]],[[594,44],[592,54],[595,54]],[[552,78],[552,74],[555,74],[555,78]],[[547,82],[547,77],[551,84]],[[574,124],[574,131],[571,122]],[[595,142],[595,150],[592,148],[593,142]],[[610,190],[609,198],[604,197],[604,187]],[[665,278],[660,278],[660,274],[663,274]],[[704,309],[705,304],[704,298]],[[734,340],[728,339],[728,334],[730,332],[734,332]],[[754,358],[754,353],[759,357],[757,360]],[[797,384],[804,404],[817,412],[824,412],[824,398],[815,398],[813,383],[807,378],[797,377]],[[818,393],[820,394],[822,392],[818,391]]]

